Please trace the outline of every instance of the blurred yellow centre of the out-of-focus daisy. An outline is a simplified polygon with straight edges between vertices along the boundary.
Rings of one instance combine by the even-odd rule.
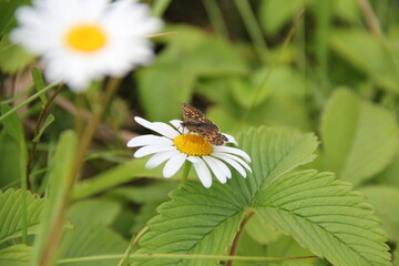
[[[96,24],[79,24],[65,35],[66,44],[80,52],[94,52],[104,47],[106,35]]]

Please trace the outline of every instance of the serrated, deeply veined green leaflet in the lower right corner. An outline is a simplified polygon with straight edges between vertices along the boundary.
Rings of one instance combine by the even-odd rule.
[[[265,190],[254,209],[334,265],[391,265],[385,232],[365,196],[331,173],[301,171]]]

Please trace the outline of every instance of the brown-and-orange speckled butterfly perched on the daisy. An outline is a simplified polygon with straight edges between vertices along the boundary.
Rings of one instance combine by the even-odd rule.
[[[198,109],[187,103],[182,103],[182,111],[184,120],[182,125],[190,131],[197,133],[214,145],[223,145],[227,141],[227,137],[219,133],[217,125],[206,119]]]

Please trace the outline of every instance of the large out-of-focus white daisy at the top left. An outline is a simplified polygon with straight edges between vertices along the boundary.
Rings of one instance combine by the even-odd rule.
[[[40,55],[48,81],[81,92],[104,75],[122,76],[153,58],[146,38],[161,28],[143,3],[130,0],[35,0],[16,12],[11,40]]]

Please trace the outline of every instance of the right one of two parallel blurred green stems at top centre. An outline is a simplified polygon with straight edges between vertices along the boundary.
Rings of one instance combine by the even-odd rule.
[[[244,20],[244,24],[248,31],[249,38],[254,42],[254,48],[258,57],[264,61],[269,58],[269,52],[265,39],[263,37],[259,24],[256,21],[255,14],[250,9],[249,1],[235,0],[235,4],[238,9],[241,17]]]

